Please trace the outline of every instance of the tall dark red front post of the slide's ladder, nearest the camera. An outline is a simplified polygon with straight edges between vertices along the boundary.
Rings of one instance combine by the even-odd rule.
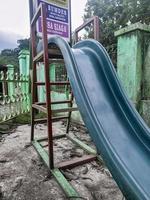
[[[47,24],[46,24],[46,7],[42,4],[42,32],[43,32],[43,48],[44,48],[44,64],[45,64],[45,86],[46,86],[46,106],[47,106],[47,131],[48,131],[48,150],[49,150],[49,166],[54,168],[53,159],[53,136],[52,136],[52,112],[51,112],[51,86],[49,85],[49,59],[48,59],[48,40],[47,40]]]

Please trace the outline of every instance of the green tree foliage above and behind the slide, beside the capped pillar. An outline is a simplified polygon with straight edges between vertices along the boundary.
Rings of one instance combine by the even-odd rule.
[[[116,43],[116,30],[130,23],[149,24],[150,3],[149,0],[88,0],[84,20],[94,15],[100,18],[100,41],[108,46]]]

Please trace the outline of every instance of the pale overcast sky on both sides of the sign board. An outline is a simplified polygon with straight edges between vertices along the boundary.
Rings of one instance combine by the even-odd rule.
[[[71,2],[72,27],[74,30],[83,22],[82,16],[87,0],[71,0]],[[29,37],[29,28],[28,0],[1,0],[0,50],[5,41],[9,42],[13,48],[17,39]]]

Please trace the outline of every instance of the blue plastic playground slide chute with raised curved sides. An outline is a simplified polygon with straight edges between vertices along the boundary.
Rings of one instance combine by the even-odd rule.
[[[75,99],[98,152],[126,199],[150,200],[150,133],[94,40],[73,48],[52,37],[64,57]]]

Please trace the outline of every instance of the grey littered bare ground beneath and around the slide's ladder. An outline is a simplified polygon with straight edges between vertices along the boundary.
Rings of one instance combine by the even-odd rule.
[[[30,145],[30,126],[18,126],[0,138],[0,199],[1,200],[65,200],[67,199]],[[63,122],[55,123],[55,133],[65,132]],[[36,136],[46,135],[46,126],[35,129]],[[94,147],[87,131],[71,127],[71,134]],[[67,139],[54,141],[55,162],[81,157],[84,151]],[[108,169],[94,161],[71,170],[64,176],[87,200],[122,200],[123,196]]]

